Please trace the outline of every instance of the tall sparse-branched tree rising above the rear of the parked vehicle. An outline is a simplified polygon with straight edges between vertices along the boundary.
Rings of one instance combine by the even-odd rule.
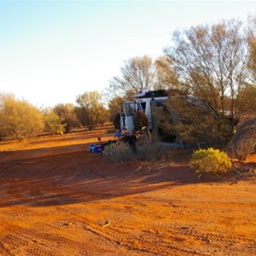
[[[224,20],[174,32],[166,55],[182,84],[203,99],[212,111],[236,112],[236,99],[245,84],[246,44],[241,22]],[[229,103],[229,104],[228,104]]]

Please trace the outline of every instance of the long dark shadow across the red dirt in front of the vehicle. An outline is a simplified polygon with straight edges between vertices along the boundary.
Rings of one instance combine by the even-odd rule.
[[[184,163],[134,172],[136,162],[112,163],[82,147],[77,145],[79,151],[68,153],[65,146],[57,147],[55,153],[59,150],[61,154],[41,157],[30,157],[37,154],[26,150],[21,159],[2,161],[0,207],[57,206],[134,195],[167,186],[220,181],[219,177],[199,179]]]

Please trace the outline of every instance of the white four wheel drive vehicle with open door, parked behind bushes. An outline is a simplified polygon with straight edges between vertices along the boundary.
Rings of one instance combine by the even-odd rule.
[[[183,102],[186,111],[195,112],[195,115],[206,114],[216,119],[216,127],[212,126],[212,129],[220,129],[218,124],[224,125],[224,131],[221,131],[223,139],[228,140],[232,136],[234,125],[238,120],[236,115],[218,112],[207,102],[182,90],[144,91],[135,95],[133,102],[123,102],[119,113],[119,129],[122,135],[131,137],[142,133],[141,131],[147,131],[149,139],[154,137],[162,142],[184,143],[182,135],[173,127],[179,124],[188,125],[192,120],[186,119],[186,115],[181,116],[177,113],[174,108],[178,102]]]

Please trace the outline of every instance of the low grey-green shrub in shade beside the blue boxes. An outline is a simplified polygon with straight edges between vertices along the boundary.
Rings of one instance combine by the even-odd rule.
[[[121,141],[106,146],[102,151],[102,155],[117,162],[135,158],[135,154],[133,153],[131,146],[128,143]]]

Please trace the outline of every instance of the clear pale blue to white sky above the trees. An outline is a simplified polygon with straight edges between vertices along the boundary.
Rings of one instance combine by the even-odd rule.
[[[254,1],[0,0],[0,92],[37,107],[75,103],[128,58],[162,55],[174,30],[249,14]]]

